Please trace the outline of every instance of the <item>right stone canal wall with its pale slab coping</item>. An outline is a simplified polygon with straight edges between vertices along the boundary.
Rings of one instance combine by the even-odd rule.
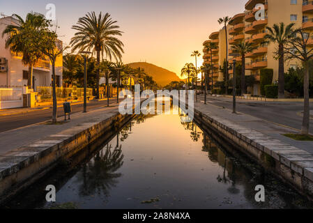
[[[203,104],[203,103],[202,103]],[[301,194],[313,199],[313,155],[286,144],[268,134],[230,121],[231,118],[209,112],[209,106],[195,103],[194,119],[201,128],[215,132],[212,137],[221,144],[231,144],[258,162],[267,171],[289,183]],[[244,114],[241,114],[244,115]],[[242,118],[242,117],[241,117]],[[266,187],[266,185],[264,185]]]

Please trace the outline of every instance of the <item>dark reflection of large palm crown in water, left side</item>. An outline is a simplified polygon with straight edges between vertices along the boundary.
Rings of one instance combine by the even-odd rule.
[[[109,190],[119,183],[117,178],[122,174],[116,173],[123,165],[123,153],[121,146],[112,151],[112,146],[107,144],[96,156],[84,166],[77,179],[82,181],[79,193],[83,196],[93,194],[105,194],[109,196]]]

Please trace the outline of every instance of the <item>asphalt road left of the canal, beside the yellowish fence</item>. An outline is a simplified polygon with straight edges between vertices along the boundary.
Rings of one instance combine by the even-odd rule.
[[[110,102],[116,102],[116,98],[110,99]],[[107,100],[91,100],[87,104],[87,112],[99,107],[106,107]],[[72,114],[82,112],[83,104],[72,105]],[[63,107],[58,107],[57,116],[64,117]],[[16,128],[22,128],[26,125],[32,125],[43,121],[49,121],[52,118],[52,108],[28,112],[24,114],[14,114],[10,116],[0,116],[0,132],[6,132]]]

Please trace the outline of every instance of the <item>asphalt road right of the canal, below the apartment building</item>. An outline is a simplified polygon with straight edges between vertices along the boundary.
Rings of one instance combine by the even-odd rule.
[[[208,103],[232,109],[232,101],[229,98],[208,97]],[[310,103],[310,109],[313,109],[313,103]],[[303,102],[244,102],[241,100],[237,102],[237,111],[301,130],[303,117],[299,114],[303,112]],[[313,132],[312,118],[310,132]]]

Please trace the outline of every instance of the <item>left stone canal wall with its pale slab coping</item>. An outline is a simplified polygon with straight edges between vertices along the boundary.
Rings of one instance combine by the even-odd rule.
[[[103,116],[93,116],[92,123],[88,121],[86,123],[84,122],[86,118],[82,118],[79,125],[65,128],[28,146],[1,154],[0,203],[8,201],[15,194],[35,183],[61,162],[68,162],[70,157],[99,137],[110,137],[134,117],[130,114],[121,115],[118,109],[108,112],[107,116],[108,118],[105,119]]]

